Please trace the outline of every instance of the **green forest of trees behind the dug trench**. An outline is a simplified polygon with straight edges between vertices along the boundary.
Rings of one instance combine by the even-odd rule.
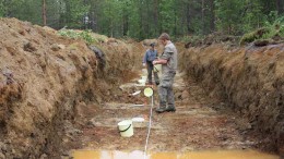
[[[242,35],[283,13],[284,0],[0,0],[0,16],[135,39]]]

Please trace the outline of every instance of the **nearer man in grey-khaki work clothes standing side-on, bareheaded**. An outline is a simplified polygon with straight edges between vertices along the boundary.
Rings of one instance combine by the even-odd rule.
[[[162,64],[163,74],[158,86],[159,108],[156,109],[156,112],[175,112],[176,107],[173,84],[177,71],[177,49],[166,33],[163,33],[158,37],[158,40],[165,48],[159,59],[153,61],[154,65]]]

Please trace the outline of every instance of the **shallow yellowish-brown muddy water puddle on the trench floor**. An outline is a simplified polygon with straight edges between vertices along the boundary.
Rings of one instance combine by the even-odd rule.
[[[216,151],[192,151],[192,152],[150,152],[144,158],[143,151],[93,151],[76,150],[74,159],[280,159],[275,155],[259,152],[256,150],[216,150]]]

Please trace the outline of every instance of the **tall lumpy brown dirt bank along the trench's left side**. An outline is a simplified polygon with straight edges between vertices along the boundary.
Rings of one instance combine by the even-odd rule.
[[[106,54],[100,69],[83,40],[51,28],[0,19],[0,158],[57,155],[75,107],[107,100],[135,65],[121,41],[96,46]]]

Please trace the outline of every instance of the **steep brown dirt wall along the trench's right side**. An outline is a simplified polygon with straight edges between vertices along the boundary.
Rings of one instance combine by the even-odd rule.
[[[192,47],[180,52],[179,62],[211,97],[227,101],[249,121],[241,133],[261,137],[265,150],[284,152],[284,44]]]

